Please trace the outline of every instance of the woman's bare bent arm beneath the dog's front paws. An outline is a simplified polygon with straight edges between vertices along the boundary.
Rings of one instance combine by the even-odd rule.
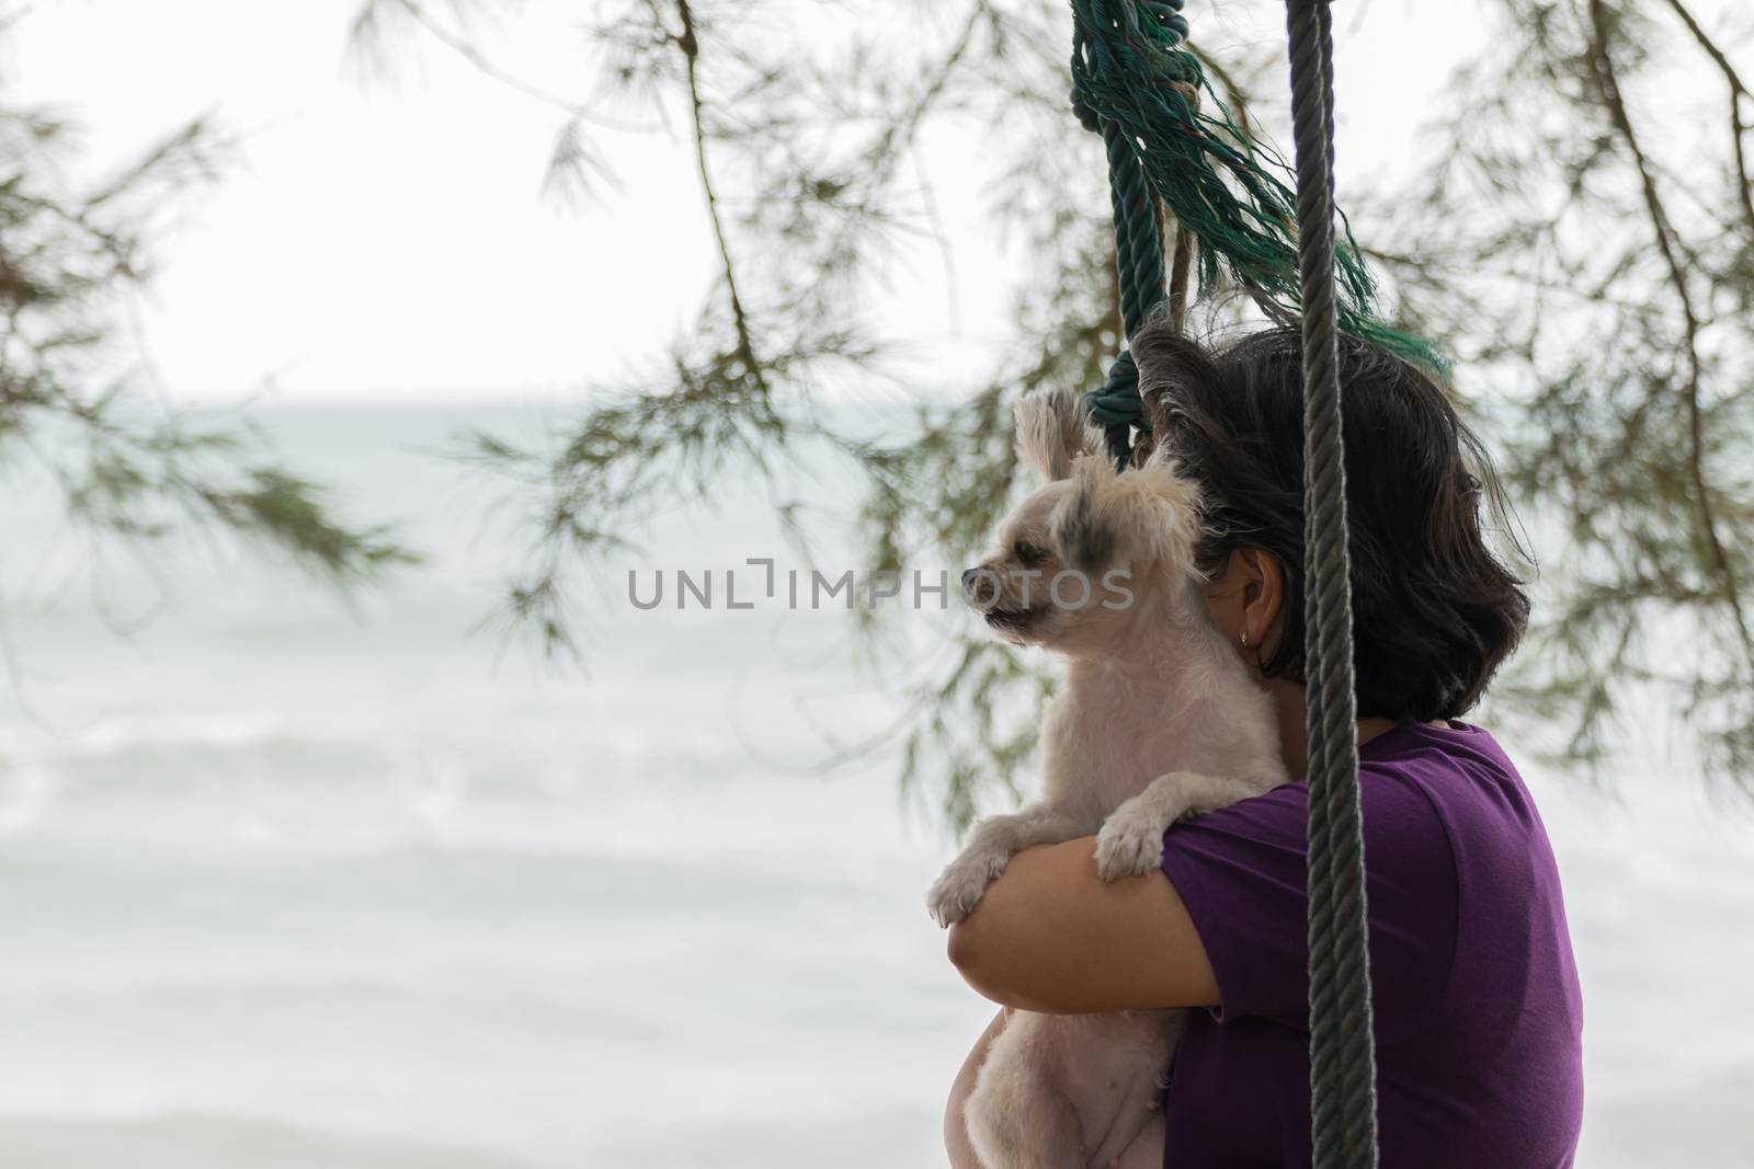
[[[1163,873],[1103,882],[1094,836],[1017,854],[975,911],[951,927],[951,962],[970,987],[1024,1011],[1219,1003],[1180,894]]]

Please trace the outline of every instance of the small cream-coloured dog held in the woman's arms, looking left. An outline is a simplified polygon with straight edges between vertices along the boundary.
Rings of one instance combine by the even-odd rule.
[[[998,636],[1066,657],[1066,680],[1045,708],[1042,799],[973,827],[928,894],[940,925],[1024,848],[1096,834],[1103,880],[1149,873],[1173,822],[1287,778],[1270,699],[1205,606],[1198,487],[1161,456],[1117,471],[1072,393],[1017,405],[1017,454],[1045,482],[963,589]],[[982,1169],[1117,1164],[1180,1029],[1182,1011],[1012,1011],[965,1109]]]

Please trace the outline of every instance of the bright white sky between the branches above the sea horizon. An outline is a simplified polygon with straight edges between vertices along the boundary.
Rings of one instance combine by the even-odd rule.
[[[686,142],[605,140],[623,188],[568,210],[540,195],[560,114],[410,42],[393,81],[349,67],[358,0],[60,0],[12,33],[7,100],[51,103],[86,126],[93,163],[126,158],[212,112],[240,165],[196,195],[158,249],[140,312],[167,393],[270,401],[540,400],[614,380],[693,319],[712,266]],[[1194,0],[1196,37],[1282,35]],[[858,5],[849,5],[858,12]],[[528,4],[481,30],[493,54],[568,96],[591,54],[570,26],[589,5]],[[1342,189],[1417,142],[1449,67],[1479,42],[1470,5],[1337,5]],[[1070,16],[1068,16],[1070,28]],[[1070,37],[1070,32],[1068,32]],[[1068,114],[1070,117],[1070,114]],[[961,296],[930,249],[903,256],[884,328],[988,366],[1002,333],[1003,258],[982,235],[980,172],[940,137],[928,165]],[[679,226],[681,224],[681,226]]]

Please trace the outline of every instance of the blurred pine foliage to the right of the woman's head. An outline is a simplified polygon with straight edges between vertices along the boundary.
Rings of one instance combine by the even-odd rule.
[[[1438,165],[1372,237],[1405,312],[1458,351],[1554,570],[1500,703],[1570,727],[1561,755],[1586,764],[1621,720],[1649,733],[1679,708],[1747,787],[1749,26],[1684,0],[1493,7]]]

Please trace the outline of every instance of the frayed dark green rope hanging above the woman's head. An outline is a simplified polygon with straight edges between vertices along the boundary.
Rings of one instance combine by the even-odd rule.
[[[1301,310],[1296,198],[1291,170],[1237,126],[1187,51],[1184,0],[1072,0],[1072,109],[1103,135],[1114,207],[1121,324],[1128,338],[1163,300],[1158,205],[1196,242],[1198,291],[1228,277],[1270,317]],[[1205,100],[1194,100],[1205,95]],[[1201,112],[1212,109],[1216,114]],[[1342,217],[1344,223],[1344,217]],[[1375,284],[1347,230],[1335,254],[1340,328],[1435,372],[1426,342],[1375,317]],[[1121,352],[1102,389],[1086,396],[1121,466],[1144,431],[1138,368]]]

